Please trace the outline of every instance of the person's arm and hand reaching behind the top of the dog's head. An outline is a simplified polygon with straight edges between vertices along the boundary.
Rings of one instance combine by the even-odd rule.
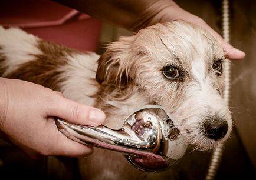
[[[234,48],[206,22],[180,8],[172,0],[54,0],[103,21],[109,21],[130,31],[139,31],[157,22],[183,19],[205,28],[221,43],[229,59],[242,59],[245,53]]]

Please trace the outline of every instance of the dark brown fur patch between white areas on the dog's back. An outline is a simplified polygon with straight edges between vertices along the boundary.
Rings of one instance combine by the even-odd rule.
[[[64,81],[60,79],[63,71],[60,71],[59,67],[67,63],[65,56],[74,51],[41,40],[38,41],[38,49],[42,51],[42,54],[34,54],[34,60],[21,64],[6,78],[22,79],[59,91],[58,82]]]

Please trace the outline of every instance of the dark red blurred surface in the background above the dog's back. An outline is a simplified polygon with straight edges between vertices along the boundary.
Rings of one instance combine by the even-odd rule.
[[[19,26],[47,41],[96,51],[101,22],[47,0],[0,1],[0,25]]]

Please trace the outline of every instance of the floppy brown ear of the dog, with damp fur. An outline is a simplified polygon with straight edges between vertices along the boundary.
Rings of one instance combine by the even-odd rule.
[[[96,80],[99,84],[126,86],[134,76],[134,36],[122,37],[107,45],[98,60]]]

